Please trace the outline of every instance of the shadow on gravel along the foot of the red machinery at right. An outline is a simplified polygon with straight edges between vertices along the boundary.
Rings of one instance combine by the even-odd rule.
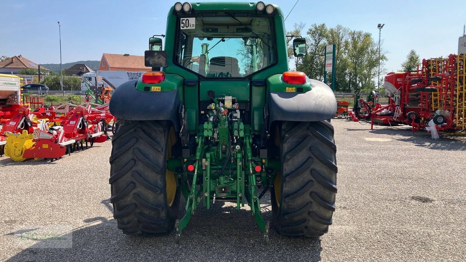
[[[453,137],[446,134],[439,134],[439,140],[433,140],[430,133],[416,131],[414,134],[409,128],[379,128],[369,130],[373,134],[385,134],[392,136],[403,136],[395,138],[398,141],[411,142],[416,146],[426,147],[435,150],[463,151],[466,150],[466,138]]]

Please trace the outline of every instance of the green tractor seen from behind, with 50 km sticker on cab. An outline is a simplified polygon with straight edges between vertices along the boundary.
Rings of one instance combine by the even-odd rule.
[[[153,36],[145,51],[152,71],[120,85],[110,100],[118,118],[110,156],[118,228],[133,235],[175,228],[179,243],[199,205],[247,203],[267,244],[260,199],[270,190],[279,234],[328,232],[336,99],[325,83],[288,71],[281,9],[261,1],[177,2],[160,36],[165,48]],[[304,38],[293,40],[293,52],[306,55]]]

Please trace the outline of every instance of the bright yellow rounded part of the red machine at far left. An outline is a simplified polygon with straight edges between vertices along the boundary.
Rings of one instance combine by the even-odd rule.
[[[27,160],[23,158],[23,153],[34,145],[32,134],[27,134],[27,131],[23,130],[21,134],[9,133],[6,135],[5,155],[16,162]]]

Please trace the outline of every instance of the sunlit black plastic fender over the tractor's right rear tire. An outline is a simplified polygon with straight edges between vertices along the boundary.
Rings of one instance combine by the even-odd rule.
[[[306,93],[269,91],[269,127],[277,120],[311,122],[335,116],[337,106],[332,89],[320,81],[309,81],[312,89]]]

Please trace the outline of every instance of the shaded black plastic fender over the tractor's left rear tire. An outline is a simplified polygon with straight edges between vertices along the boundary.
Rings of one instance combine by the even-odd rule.
[[[110,113],[126,120],[171,120],[180,131],[178,90],[143,92],[135,88],[137,79],[118,86],[110,98]]]

